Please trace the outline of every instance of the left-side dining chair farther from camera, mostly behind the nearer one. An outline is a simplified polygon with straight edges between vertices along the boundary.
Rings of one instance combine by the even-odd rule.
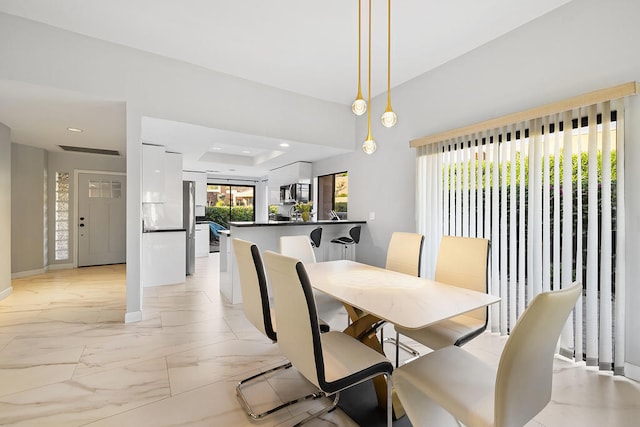
[[[233,252],[238,266],[244,314],[260,332],[273,342],[277,342],[275,313],[269,303],[266,273],[260,251],[254,243],[235,238],[233,239]],[[236,386],[236,395],[247,415],[253,419],[261,419],[294,403],[320,397],[319,394],[312,393],[284,402],[263,412],[257,412],[249,403],[247,396],[243,393],[243,388],[267,373],[289,368],[291,368],[291,362],[283,363],[268,371],[245,378],[238,383]]]

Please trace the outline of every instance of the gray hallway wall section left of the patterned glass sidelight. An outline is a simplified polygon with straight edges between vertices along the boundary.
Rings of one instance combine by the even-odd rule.
[[[11,145],[11,273],[44,272],[47,152]]]

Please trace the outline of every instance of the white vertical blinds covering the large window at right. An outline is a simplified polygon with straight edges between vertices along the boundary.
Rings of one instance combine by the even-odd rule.
[[[559,352],[624,367],[624,111],[605,101],[417,148],[423,275],[443,235],[491,241],[491,331],[508,334],[540,292],[583,285]],[[462,261],[462,260],[461,260]]]

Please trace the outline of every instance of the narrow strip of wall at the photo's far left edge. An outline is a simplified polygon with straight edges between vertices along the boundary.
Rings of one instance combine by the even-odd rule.
[[[11,131],[0,123],[0,300],[11,294]]]

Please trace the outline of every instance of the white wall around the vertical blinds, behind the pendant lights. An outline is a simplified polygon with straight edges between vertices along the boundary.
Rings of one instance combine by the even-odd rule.
[[[596,89],[640,80],[640,2],[574,0],[530,24],[487,43],[431,72],[392,89],[398,114],[392,129],[380,125],[385,97],[374,100],[372,133],[378,151],[317,162],[314,176],[349,171],[349,218],[369,221],[358,247],[362,261],[384,265],[395,230],[415,231],[415,153],[409,140],[504,114],[526,110]],[[640,106],[631,105],[626,164],[640,162]],[[366,136],[366,118],[357,123],[357,141]],[[627,184],[627,353],[640,366],[640,182],[638,168],[626,170]],[[426,236],[428,239],[429,236]],[[633,332],[632,332],[633,331]],[[629,370],[627,370],[629,371]],[[640,379],[640,371],[637,379]]]

